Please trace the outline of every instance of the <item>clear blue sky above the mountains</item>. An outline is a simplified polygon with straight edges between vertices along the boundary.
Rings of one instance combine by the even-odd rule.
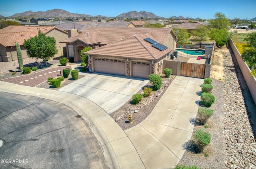
[[[29,10],[33,12],[62,9],[71,13],[116,17],[130,11],[152,12],[170,18],[212,19],[222,12],[229,19],[256,17],[256,0],[0,0],[0,15],[8,17]]]

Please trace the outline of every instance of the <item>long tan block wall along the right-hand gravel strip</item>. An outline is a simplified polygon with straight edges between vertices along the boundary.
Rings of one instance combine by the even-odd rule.
[[[250,75],[250,68],[247,66],[247,64],[244,62],[243,58],[241,57],[241,54],[237,50],[236,46],[234,45],[234,42],[232,39],[229,40],[229,44],[234,52],[234,56],[236,57],[236,60],[238,62],[238,65],[240,67],[240,70],[244,76],[244,80],[246,81],[246,84],[250,90],[250,93],[252,95],[252,99],[254,100],[254,103],[256,103],[256,78],[252,77]]]

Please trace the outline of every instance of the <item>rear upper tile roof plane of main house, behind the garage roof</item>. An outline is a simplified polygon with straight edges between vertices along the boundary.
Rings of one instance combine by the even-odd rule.
[[[102,39],[101,44],[110,44],[133,35],[151,33],[159,43],[163,44],[167,35],[172,31],[170,28],[99,28],[90,27],[85,32],[98,32]]]

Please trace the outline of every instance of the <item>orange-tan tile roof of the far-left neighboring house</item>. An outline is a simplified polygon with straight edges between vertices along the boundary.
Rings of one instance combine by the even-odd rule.
[[[4,47],[15,46],[16,42],[23,45],[24,39],[28,40],[37,36],[38,30],[47,34],[54,29],[68,34],[64,30],[50,26],[7,26],[6,28],[0,29],[0,44]]]

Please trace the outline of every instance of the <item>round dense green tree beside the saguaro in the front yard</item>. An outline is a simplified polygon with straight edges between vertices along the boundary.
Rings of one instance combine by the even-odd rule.
[[[58,52],[55,44],[56,40],[43,34],[41,30],[38,31],[38,36],[24,40],[24,47],[27,49],[28,56],[43,59],[45,66],[48,66],[46,58],[53,58]]]

